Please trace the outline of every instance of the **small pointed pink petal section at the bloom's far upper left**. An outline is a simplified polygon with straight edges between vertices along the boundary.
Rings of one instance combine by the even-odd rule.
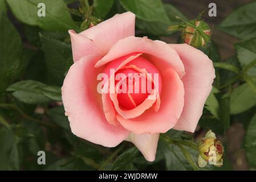
[[[73,60],[78,61],[81,57],[86,55],[97,54],[101,55],[100,49],[95,42],[86,38],[83,35],[76,34],[74,30],[69,30],[72,45]]]

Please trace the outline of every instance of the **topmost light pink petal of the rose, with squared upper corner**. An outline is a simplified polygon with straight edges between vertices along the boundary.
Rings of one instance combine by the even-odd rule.
[[[116,14],[80,34],[95,42],[105,55],[118,40],[135,35],[135,14]]]

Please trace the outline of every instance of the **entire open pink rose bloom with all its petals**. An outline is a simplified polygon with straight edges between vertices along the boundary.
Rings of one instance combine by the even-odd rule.
[[[64,79],[62,99],[72,133],[105,147],[127,140],[152,162],[160,133],[194,132],[215,78],[212,61],[203,52],[188,44],[135,37],[131,12],[79,34],[68,32],[74,64]],[[100,82],[100,89],[111,90],[109,80],[99,79],[101,73],[109,80],[117,73],[127,77],[115,80],[112,92],[98,92]],[[145,84],[139,80],[132,82],[139,93],[118,93],[128,73],[159,77],[145,77],[152,83],[152,93],[141,92]]]

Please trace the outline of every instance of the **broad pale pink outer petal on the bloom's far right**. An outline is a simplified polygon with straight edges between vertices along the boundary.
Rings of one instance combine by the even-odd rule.
[[[215,71],[212,60],[188,44],[169,44],[180,56],[186,75],[182,77],[185,103],[176,130],[194,132],[202,115],[204,104],[212,90]]]

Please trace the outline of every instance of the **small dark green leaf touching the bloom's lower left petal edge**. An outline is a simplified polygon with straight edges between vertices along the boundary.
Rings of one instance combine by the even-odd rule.
[[[70,122],[68,118],[65,117],[65,111],[63,106],[55,107],[54,109],[50,109],[47,111],[49,117],[57,123],[59,126],[62,126],[64,129],[70,131]]]

